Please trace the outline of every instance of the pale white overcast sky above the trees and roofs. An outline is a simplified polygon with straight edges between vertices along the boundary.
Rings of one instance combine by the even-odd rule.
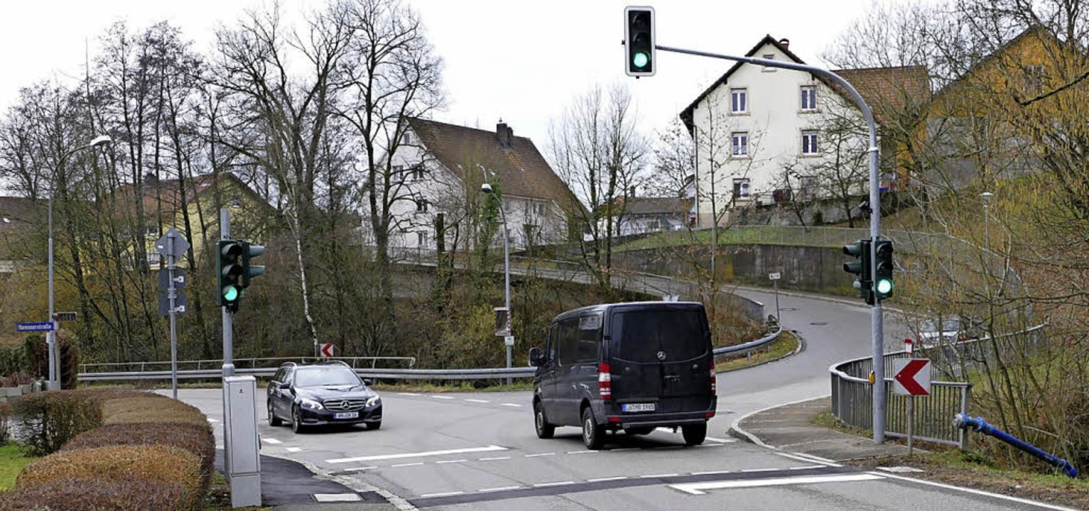
[[[595,84],[624,83],[636,98],[641,126],[664,127],[730,63],[659,53],[658,75],[624,74],[623,9],[651,4],[659,45],[743,54],[764,35],[791,39],[791,50],[823,65],[821,51],[873,0],[408,0],[438,53],[450,103],[440,121],[494,128],[502,117],[515,135],[543,151],[549,121]],[[321,0],[282,0],[298,13]],[[84,72],[85,43],[118,20],[133,28],[169,21],[198,50],[211,46],[218,24],[231,25],[260,0],[37,0],[0,2],[0,109],[19,88],[41,79],[73,80]]]

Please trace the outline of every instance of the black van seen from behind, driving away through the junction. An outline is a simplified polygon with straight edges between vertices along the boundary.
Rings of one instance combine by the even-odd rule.
[[[588,449],[604,432],[646,435],[680,426],[685,444],[702,444],[714,416],[714,353],[707,312],[695,302],[584,307],[552,320],[544,349],[533,348],[534,423],[582,426]]]

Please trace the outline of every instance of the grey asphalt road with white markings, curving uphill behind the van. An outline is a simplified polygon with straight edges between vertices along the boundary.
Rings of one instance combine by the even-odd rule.
[[[738,291],[770,304],[762,291]],[[829,392],[828,367],[870,352],[869,310],[817,297],[781,296],[784,326],[806,350],[779,362],[719,375],[720,414],[708,441],[684,447],[680,434],[616,435],[603,451],[587,451],[576,428],[556,438],[534,435],[530,392],[382,396],[380,431],[362,426],[295,435],[269,427],[259,413],[262,454],[306,463],[366,491],[382,488],[418,509],[437,510],[903,510],[1042,509],[857,472],[778,452],[726,436],[741,414]],[[902,335],[886,328],[886,345]],[[259,389],[264,395],[264,389]],[[222,428],[219,390],[181,390]]]

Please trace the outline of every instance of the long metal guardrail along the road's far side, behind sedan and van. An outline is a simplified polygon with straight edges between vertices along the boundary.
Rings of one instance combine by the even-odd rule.
[[[714,350],[715,356],[721,354],[749,354],[752,351],[767,347],[778,339],[783,333],[780,328],[772,334],[759,339],[737,346],[727,346]],[[365,357],[359,357],[365,358]],[[222,363],[222,361],[220,361]],[[243,367],[235,369],[238,375],[248,374],[252,376],[271,376],[276,374],[278,367]],[[536,367],[497,367],[497,369],[372,369],[355,367],[355,374],[366,378],[383,379],[490,379],[490,378],[531,378]],[[179,379],[215,379],[223,375],[221,369],[191,369],[179,370]],[[170,379],[170,371],[120,371],[120,372],[95,372],[79,373],[76,375],[81,382],[131,382],[131,381],[154,381]]]

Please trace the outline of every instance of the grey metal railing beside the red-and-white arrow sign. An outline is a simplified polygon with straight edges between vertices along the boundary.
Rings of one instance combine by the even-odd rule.
[[[1037,325],[1025,331],[1005,334],[995,337],[1012,337],[1016,335],[1029,335],[1035,338],[1038,331],[1047,324]],[[976,347],[990,341],[990,337],[956,342],[953,348],[977,349]],[[945,346],[930,348],[945,351]],[[925,352],[926,350],[919,350]],[[911,358],[913,354],[906,351],[896,351],[884,354],[885,374],[893,374],[893,361],[897,359]],[[873,359],[866,357],[839,362],[829,367],[832,377],[832,414],[836,419],[855,427],[864,429],[873,427],[873,386],[869,383],[870,371],[873,370]],[[907,436],[907,413],[908,396],[893,394],[893,378],[885,381],[885,435],[893,437]],[[967,449],[968,437],[964,429],[957,428],[953,424],[953,416],[957,413],[968,413],[971,402],[971,384],[966,382],[932,382],[930,384],[930,396],[915,400],[915,419],[913,436],[920,440],[928,440],[938,444],[950,444],[962,449]]]

